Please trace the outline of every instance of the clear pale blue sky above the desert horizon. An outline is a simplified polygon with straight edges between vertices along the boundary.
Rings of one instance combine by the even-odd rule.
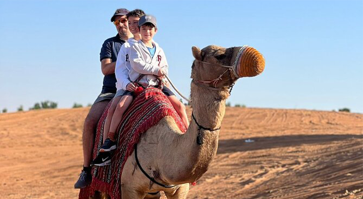
[[[184,96],[192,46],[249,45],[264,55],[265,71],[237,81],[232,105],[363,113],[362,0],[0,0],[0,110],[93,103],[101,45],[116,35],[110,18],[121,7],[157,18],[154,40]]]

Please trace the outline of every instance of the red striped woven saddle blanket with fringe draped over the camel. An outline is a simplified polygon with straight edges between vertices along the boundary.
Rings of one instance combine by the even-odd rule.
[[[111,103],[112,101],[109,102],[97,124],[93,159],[102,146],[103,125]],[[111,199],[121,199],[122,168],[132,154],[134,145],[139,142],[142,133],[167,115],[174,117],[182,132],[186,131],[177,111],[160,89],[148,88],[138,94],[126,110],[115,134],[117,149],[112,154],[111,164],[92,168],[92,183],[80,190],[79,199],[89,199],[95,191],[105,192]]]

